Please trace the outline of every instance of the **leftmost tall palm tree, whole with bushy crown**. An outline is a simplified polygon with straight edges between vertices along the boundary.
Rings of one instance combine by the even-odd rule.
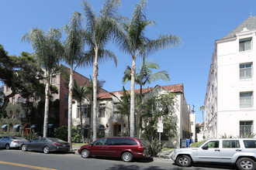
[[[49,97],[50,97],[50,77],[58,72],[63,46],[61,45],[61,29],[50,28],[48,32],[43,29],[32,29],[22,36],[22,42],[31,42],[37,61],[45,70],[45,107],[43,121],[43,137],[47,137]]]

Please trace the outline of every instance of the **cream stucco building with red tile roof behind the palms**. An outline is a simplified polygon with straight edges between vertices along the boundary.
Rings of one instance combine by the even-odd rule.
[[[190,127],[190,109],[185,100],[184,87],[182,83],[169,85],[169,86],[156,86],[147,87],[142,90],[143,98],[158,96],[161,93],[172,92],[175,93],[178,107],[175,109],[175,115],[177,116],[178,134],[175,138],[163,140],[163,143],[168,143],[171,147],[180,148],[181,140],[186,138],[191,138],[191,127]],[[135,93],[140,93],[140,89],[135,90]],[[109,93],[99,93],[97,100],[97,128],[98,132],[102,133],[105,137],[125,135],[128,132],[128,122],[127,118],[123,114],[116,114],[116,104],[119,100],[123,98],[123,90],[114,91]],[[72,107],[72,121],[73,125],[77,126],[80,124],[80,113],[79,104],[74,102]],[[83,117],[83,128],[92,129],[92,111],[88,101],[82,104],[82,117]],[[193,118],[195,119],[195,117]],[[139,117],[137,114],[137,126]],[[90,126],[91,121],[91,126]],[[193,120],[195,121],[195,120]],[[137,128],[138,130],[138,128]],[[195,132],[194,132],[195,133]],[[137,131],[139,134],[139,131]],[[195,135],[195,134],[194,134]],[[86,137],[86,134],[85,134]]]

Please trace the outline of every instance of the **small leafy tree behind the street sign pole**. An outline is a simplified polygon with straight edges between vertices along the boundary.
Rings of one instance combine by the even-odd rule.
[[[168,138],[174,138],[177,134],[177,116],[175,115],[175,108],[177,107],[177,100],[174,93],[162,93],[157,97],[150,97],[144,100],[142,104],[142,114],[144,120],[144,128],[142,131],[142,137],[147,141],[154,142],[155,138],[158,138],[157,133],[157,120],[158,117],[162,117],[164,124],[164,132],[162,136]],[[153,146],[153,145],[152,145]],[[161,147],[161,145],[159,145]],[[152,152],[156,148],[150,148]],[[154,151],[153,151],[154,149]],[[159,150],[159,148],[158,148]]]

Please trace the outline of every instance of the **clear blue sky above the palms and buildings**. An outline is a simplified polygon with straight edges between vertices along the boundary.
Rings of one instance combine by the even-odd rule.
[[[88,0],[99,14],[103,0]],[[131,17],[133,7],[138,0],[121,0],[119,12]],[[61,28],[68,23],[74,11],[82,12],[81,0],[26,0],[0,1],[0,44],[9,55],[19,56],[22,51],[32,53],[31,46],[21,42],[21,37],[34,27],[45,32],[50,28]],[[156,26],[147,28],[147,36],[155,38],[159,34],[175,34],[182,39],[182,46],[164,49],[148,56],[157,62],[161,70],[168,70],[171,81],[157,80],[149,84],[171,85],[183,83],[187,103],[195,105],[196,122],[202,122],[206,83],[209,66],[216,39],[221,39],[240,25],[252,13],[256,15],[254,0],[149,0],[147,19],[157,22]],[[123,71],[131,66],[131,57],[119,52],[109,42],[108,49],[118,57],[118,66],[112,61],[99,64],[99,80],[106,80],[103,88],[109,91],[122,90]],[[137,59],[137,68],[140,58]],[[92,67],[77,70],[85,76],[92,75]],[[126,83],[130,90],[130,83]],[[139,88],[139,87],[136,87]]]

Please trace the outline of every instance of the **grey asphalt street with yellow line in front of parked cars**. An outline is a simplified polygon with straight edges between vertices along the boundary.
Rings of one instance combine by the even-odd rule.
[[[0,150],[1,170],[165,170],[165,169],[195,169],[195,170],[219,170],[235,169],[223,165],[192,165],[188,168],[178,167],[170,159],[148,158],[123,162],[119,158],[81,158],[74,151],[68,153],[43,154],[35,151],[21,151],[17,149]]]

